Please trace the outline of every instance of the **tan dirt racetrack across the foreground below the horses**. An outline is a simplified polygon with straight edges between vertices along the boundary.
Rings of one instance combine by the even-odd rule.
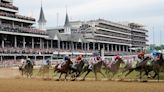
[[[0,74],[0,92],[164,92],[164,83],[158,82],[72,82],[40,78],[27,79],[17,77],[19,73],[11,69],[0,69]]]

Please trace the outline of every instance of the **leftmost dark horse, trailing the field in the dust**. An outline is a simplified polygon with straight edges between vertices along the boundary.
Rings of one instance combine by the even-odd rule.
[[[31,77],[33,74],[33,64],[31,61],[27,60],[22,66],[19,67],[22,76],[25,74],[28,77]]]

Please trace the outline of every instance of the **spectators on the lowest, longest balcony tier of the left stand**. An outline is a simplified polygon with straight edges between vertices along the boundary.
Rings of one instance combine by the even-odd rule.
[[[20,27],[20,26],[13,27],[12,25],[9,25],[9,24],[1,24],[0,30],[9,31],[9,32],[18,32],[18,33],[32,33],[32,34],[47,35],[47,33],[43,30],[27,28],[27,27]]]

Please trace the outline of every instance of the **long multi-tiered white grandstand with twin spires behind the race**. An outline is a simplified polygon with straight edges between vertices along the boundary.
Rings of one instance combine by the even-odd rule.
[[[104,48],[105,55],[135,54],[129,48],[145,47],[147,30],[135,23],[122,25],[98,19],[69,21],[64,26],[45,30],[41,6],[38,24],[35,18],[19,15],[12,0],[0,0],[0,63],[17,63],[21,58],[35,61],[61,58],[65,54],[85,56]]]

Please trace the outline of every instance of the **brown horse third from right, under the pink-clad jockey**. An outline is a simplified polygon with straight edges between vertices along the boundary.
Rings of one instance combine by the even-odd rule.
[[[122,58],[118,58],[115,60],[115,62],[106,62],[105,68],[106,68],[106,73],[109,74],[109,72],[112,72],[112,77],[119,71],[120,65],[124,64],[124,61]],[[111,77],[111,78],[112,78]]]

